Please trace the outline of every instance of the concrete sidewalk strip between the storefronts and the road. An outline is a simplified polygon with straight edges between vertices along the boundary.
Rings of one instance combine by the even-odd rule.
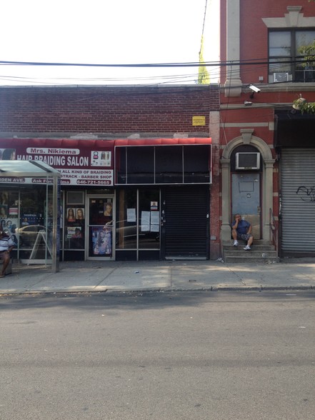
[[[60,271],[13,264],[0,294],[96,291],[315,289],[315,259],[278,264],[222,261],[71,261]]]

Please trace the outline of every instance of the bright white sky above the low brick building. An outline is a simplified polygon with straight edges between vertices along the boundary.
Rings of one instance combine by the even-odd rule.
[[[219,61],[219,0],[6,0],[0,61],[154,64]],[[204,16],[206,19],[204,24]],[[211,82],[218,79],[212,71]],[[0,85],[194,84],[198,67],[0,65]]]

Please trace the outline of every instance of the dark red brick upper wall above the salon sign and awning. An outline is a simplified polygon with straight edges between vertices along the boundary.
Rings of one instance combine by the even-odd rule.
[[[209,133],[218,109],[216,85],[0,87],[0,133]]]

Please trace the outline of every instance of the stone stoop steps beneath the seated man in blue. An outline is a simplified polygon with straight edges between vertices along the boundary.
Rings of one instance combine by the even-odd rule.
[[[251,251],[245,251],[245,241],[239,241],[239,246],[233,246],[233,240],[225,241],[223,244],[223,260],[226,263],[276,263],[279,257],[276,254],[274,245],[263,239],[254,240]]]

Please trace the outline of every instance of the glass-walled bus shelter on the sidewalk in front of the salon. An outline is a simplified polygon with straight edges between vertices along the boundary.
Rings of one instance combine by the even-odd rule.
[[[42,161],[0,161],[0,223],[21,264],[59,271],[60,176]]]

